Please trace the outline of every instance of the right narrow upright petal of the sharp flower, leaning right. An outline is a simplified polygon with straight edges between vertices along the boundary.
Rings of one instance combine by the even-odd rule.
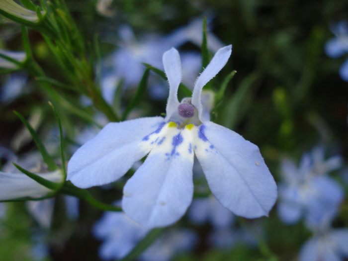
[[[202,119],[203,107],[201,103],[201,92],[202,88],[213,79],[218,72],[226,65],[228,59],[230,58],[232,53],[232,45],[225,46],[220,48],[213,59],[210,61],[208,66],[202,72],[202,74],[198,77],[196,84],[193,88],[192,93],[192,104],[197,108],[199,119],[201,122],[205,122],[207,120]]]

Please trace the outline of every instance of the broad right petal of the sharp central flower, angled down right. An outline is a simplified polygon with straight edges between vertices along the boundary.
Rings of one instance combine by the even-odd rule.
[[[194,152],[217,200],[237,215],[267,215],[277,187],[259,148],[211,121],[192,129]]]

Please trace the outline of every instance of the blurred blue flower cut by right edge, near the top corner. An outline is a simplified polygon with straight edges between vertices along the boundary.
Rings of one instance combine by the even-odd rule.
[[[338,58],[348,53],[348,22],[341,21],[332,29],[335,38],[329,40],[325,45],[325,53],[331,58]],[[342,80],[348,82],[348,60],[340,68]]]

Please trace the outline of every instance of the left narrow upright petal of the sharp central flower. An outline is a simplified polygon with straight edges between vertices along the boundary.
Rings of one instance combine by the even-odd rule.
[[[180,104],[177,100],[177,89],[181,82],[181,62],[179,53],[175,48],[164,53],[163,66],[169,82],[169,97],[166,108],[167,121]]]

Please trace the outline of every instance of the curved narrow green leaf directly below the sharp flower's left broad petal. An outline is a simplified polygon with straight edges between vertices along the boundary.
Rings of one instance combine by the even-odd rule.
[[[81,199],[86,200],[91,205],[105,211],[122,211],[122,209],[118,206],[105,204],[103,202],[100,202],[96,200],[87,189],[82,189],[79,187],[74,186],[70,181],[66,181],[63,185],[63,187],[60,190],[61,193],[75,196]]]

